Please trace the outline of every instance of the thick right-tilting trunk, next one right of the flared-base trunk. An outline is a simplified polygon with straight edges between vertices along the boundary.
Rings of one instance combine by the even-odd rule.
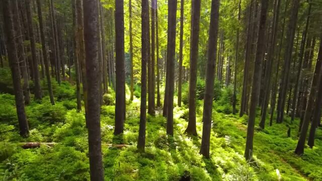
[[[203,128],[200,154],[209,158],[210,132],[212,119],[213,87],[216,66],[217,39],[219,22],[219,0],[211,1],[209,40],[208,40],[208,60],[207,60],[207,79],[205,97],[203,105]]]

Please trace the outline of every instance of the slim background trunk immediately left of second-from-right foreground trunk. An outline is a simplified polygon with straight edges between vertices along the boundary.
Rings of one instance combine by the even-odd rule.
[[[245,66],[244,66],[244,78],[243,78],[243,91],[241,95],[241,103],[240,103],[240,111],[239,117],[243,116],[246,112],[246,105],[247,105],[247,85],[248,85],[248,75],[249,75],[249,66],[250,66],[250,50],[251,50],[251,34],[252,34],[252,13],[253,13],[253,4],[254,0],[251,0],[250,4],[250,11],[249,11],[249,19],[248,19],[248,36],[247,36],[247,43],[246,43],[246,53],[245,53]]]

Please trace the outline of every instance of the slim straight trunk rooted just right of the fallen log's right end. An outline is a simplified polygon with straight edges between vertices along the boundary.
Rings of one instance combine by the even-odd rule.
[[[146,127],[146,76],[147,76],[147,52],[148,52],[148,30],[149,30],[149,18],[148,18],[148,0],[141,1],[141,107],[140,107],[140,127],[139,137],[137,142],[137,149],[144,151],[145,149],[145,127]]]

